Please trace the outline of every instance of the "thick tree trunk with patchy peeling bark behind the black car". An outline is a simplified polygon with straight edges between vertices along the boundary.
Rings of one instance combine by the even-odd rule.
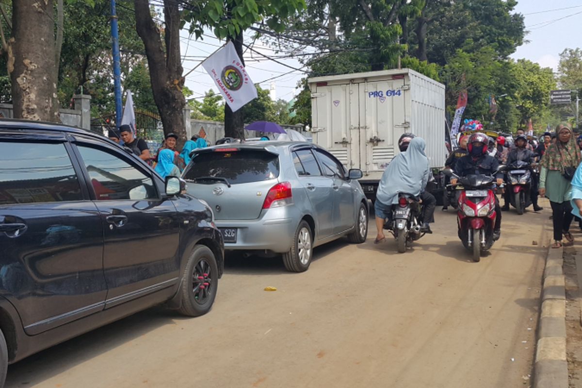
[[[8,72],[14,117],[59,122],[52,0],[14,1],[12,24]]]

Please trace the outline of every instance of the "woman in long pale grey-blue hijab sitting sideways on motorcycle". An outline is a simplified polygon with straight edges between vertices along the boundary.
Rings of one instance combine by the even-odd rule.
[[[374,244],[386,239],[384,222],[392,218],[392,205],[398,203],[398,193],[420,195],[427,186],[430,167],[424,148],[423,138],[413,138],[408,149],[396,155],[382,174],[374,202],[378,229]]]

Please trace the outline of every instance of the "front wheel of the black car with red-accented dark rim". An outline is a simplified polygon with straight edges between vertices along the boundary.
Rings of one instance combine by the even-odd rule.
[[[182,302],[179,312],[200,316],[212,308],[218,290],[218,264],[214,253],[205,245],[192,250],[182,275]]]

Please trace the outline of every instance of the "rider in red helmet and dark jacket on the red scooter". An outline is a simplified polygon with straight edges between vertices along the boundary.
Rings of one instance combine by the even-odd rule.
[[[499,162],[493,156],[487,154],[489,139],[484,133],[474,133],[469,137],[467,149],[469,155],[460,158],[455,165],[455,174],[457,176],[467,176],[471,174],[484,174],[496,176],[497,185],[503,183],[503,173],[498,172]],[[451,184],[457,184],[457,179],[452,178]],[[493,228],[493,239],[499,240],[501,237],[501,206],[495,195],[495,226]]]

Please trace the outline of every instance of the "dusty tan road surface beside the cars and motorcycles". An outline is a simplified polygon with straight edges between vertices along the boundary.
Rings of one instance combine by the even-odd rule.
[[[480,263],[440,211],[406,254],[371,225],[302,274],[230,258],[210,314],[142,312],[10,366],[6,387],[527,387],[549,212],[504,216]]]

